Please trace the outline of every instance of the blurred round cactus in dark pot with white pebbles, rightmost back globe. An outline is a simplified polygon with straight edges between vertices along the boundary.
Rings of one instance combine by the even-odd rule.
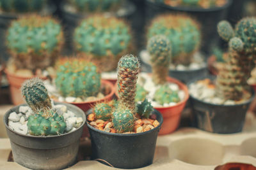
[[[170,41],[172,63],[169,74],[173,78],[187,83],[189,80],[205,76],[207,64],[199,52],[201,45],[200,25],[186,15],[160,15],[148,27],[147,37],[159,34],[166,35]],[[147,51],[141,52],[141,60],[151,72],[150,56]]]

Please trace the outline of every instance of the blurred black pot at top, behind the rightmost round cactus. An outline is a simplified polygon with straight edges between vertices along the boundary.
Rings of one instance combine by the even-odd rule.
[[[236,0],[235,0],[236,1]],[[196,18],[201,24],[202,30],[202,48],[201,50],[207,54],[211,52],[211,48],[218,44],[220,39],[216,26],[220,20],[226,19],[228,10],[232,4],[232,0],[229,0],[227,4],[221,7],[212,8],[191,8],[189,6],[168,6],[161,3],[154,3],[152,0],[147,0],[147,20],[151,20],[156,15],[163,13],[186,13],[191,17]]]

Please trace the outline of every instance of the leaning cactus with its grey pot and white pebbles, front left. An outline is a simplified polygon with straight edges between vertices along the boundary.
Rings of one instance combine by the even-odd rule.
[[[15,106],[4,115],[14,161],[29,169],[62,169],[74,164],[86,122],[83,111],[71,104],[51,103],[38,78],[27,80],[22,94],[28,106]]]

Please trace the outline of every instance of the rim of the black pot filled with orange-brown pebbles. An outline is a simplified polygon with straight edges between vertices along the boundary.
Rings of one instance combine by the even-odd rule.
[[[92,109],[86,111],[86,115],[88,115],[90,112],[92,111]],[[152,131],[156,131],[156,129],[160,129],[161,125],[163,124],[163,116],[161,115],[161,113],[159,111],[157,111],[156,109],[154,109],[151,114],[155,114],[158,115],[159,117],[159,125],[157,125],[157,127],[154,127],[154,129],[150,129],[149,131],[146,132],[140,132],[140,133],[133,133],[133,134],[118,134],[118,133],[111,133],[111,132],[105,132],[105,131],[100,131],[99,129],[96,129],[95,127],[93,127],[92,125],[90,125],[88,123],[88,121],[86,120],[86,125],[88,126],[89,129],[92,129],[93,131],[99,132],[101,134],[108,134],[110,136],[141,136],[143,134],[148,134]],[[156,119],[157,120],[157,119]],[[157,120],[158,121],[158,120]]]

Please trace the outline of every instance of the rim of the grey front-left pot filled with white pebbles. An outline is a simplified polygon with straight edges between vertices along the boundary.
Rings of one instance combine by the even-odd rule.
[[[54,102],[54,103],[56,103],[56,104],[64,104],[64,105],[66,105],[66,106],[71,106],[71,107],[74,106],[73,104],[68,104],[68,103],[61,103],[61,102]],[[8,118],[7,118],[7,113],[8,113],[8,112],[12,113],[11,111],[13,111],[14,108],[19,108],[20,106],[28,106],[28,104],[26,104],[26,103],[24,103],[24,104],[19,104],[18,106],[14,106],[14,107],[10,108],[10,110],[8,110],[8,111],[6,111],[6,113],[4,113],[3,122],[4,122],[4,125],[5,125],[5,128],[6,128],[6,129],[8,129],[9,131],[11,131],[11,132],[13,132],[13,133],[15,133],[15,134],[17,134],[17,135],[19,135],[19,136],[24,136],[25,138],[58,138],[58,137],[61,137],[61,136],[66,136],[66,135],[68,135],[68,134],[71,134],[71,133],[76,132],[76,131],[78,131],[79,129],[83,128],[85,122],[87,122],[87,121],[86,121],[86,116],[85,116],[84,114],[82,114],[82,115],[83,115],[83,117],[82,117],[82,118],[83,118],[83,124],[81,124],[80,127],[76,129],[76,131],[72,131],[72,132],[70,131],[70,132],[67,132],[67,133],[65,133],[65,134],[52,135],[52,136],[33,136],[33,135],[21,134],[21,133],[19,133],[19,132],[13,131],[13,130],[7,125],[7,122],[6,122],[6,120],[8,120]],[[81,113],[84,113],[84,111],[81,110],[79,107],[77,107],[77,106],[74,106],[74,107],[76,107],[77,110],[81,111]]]

